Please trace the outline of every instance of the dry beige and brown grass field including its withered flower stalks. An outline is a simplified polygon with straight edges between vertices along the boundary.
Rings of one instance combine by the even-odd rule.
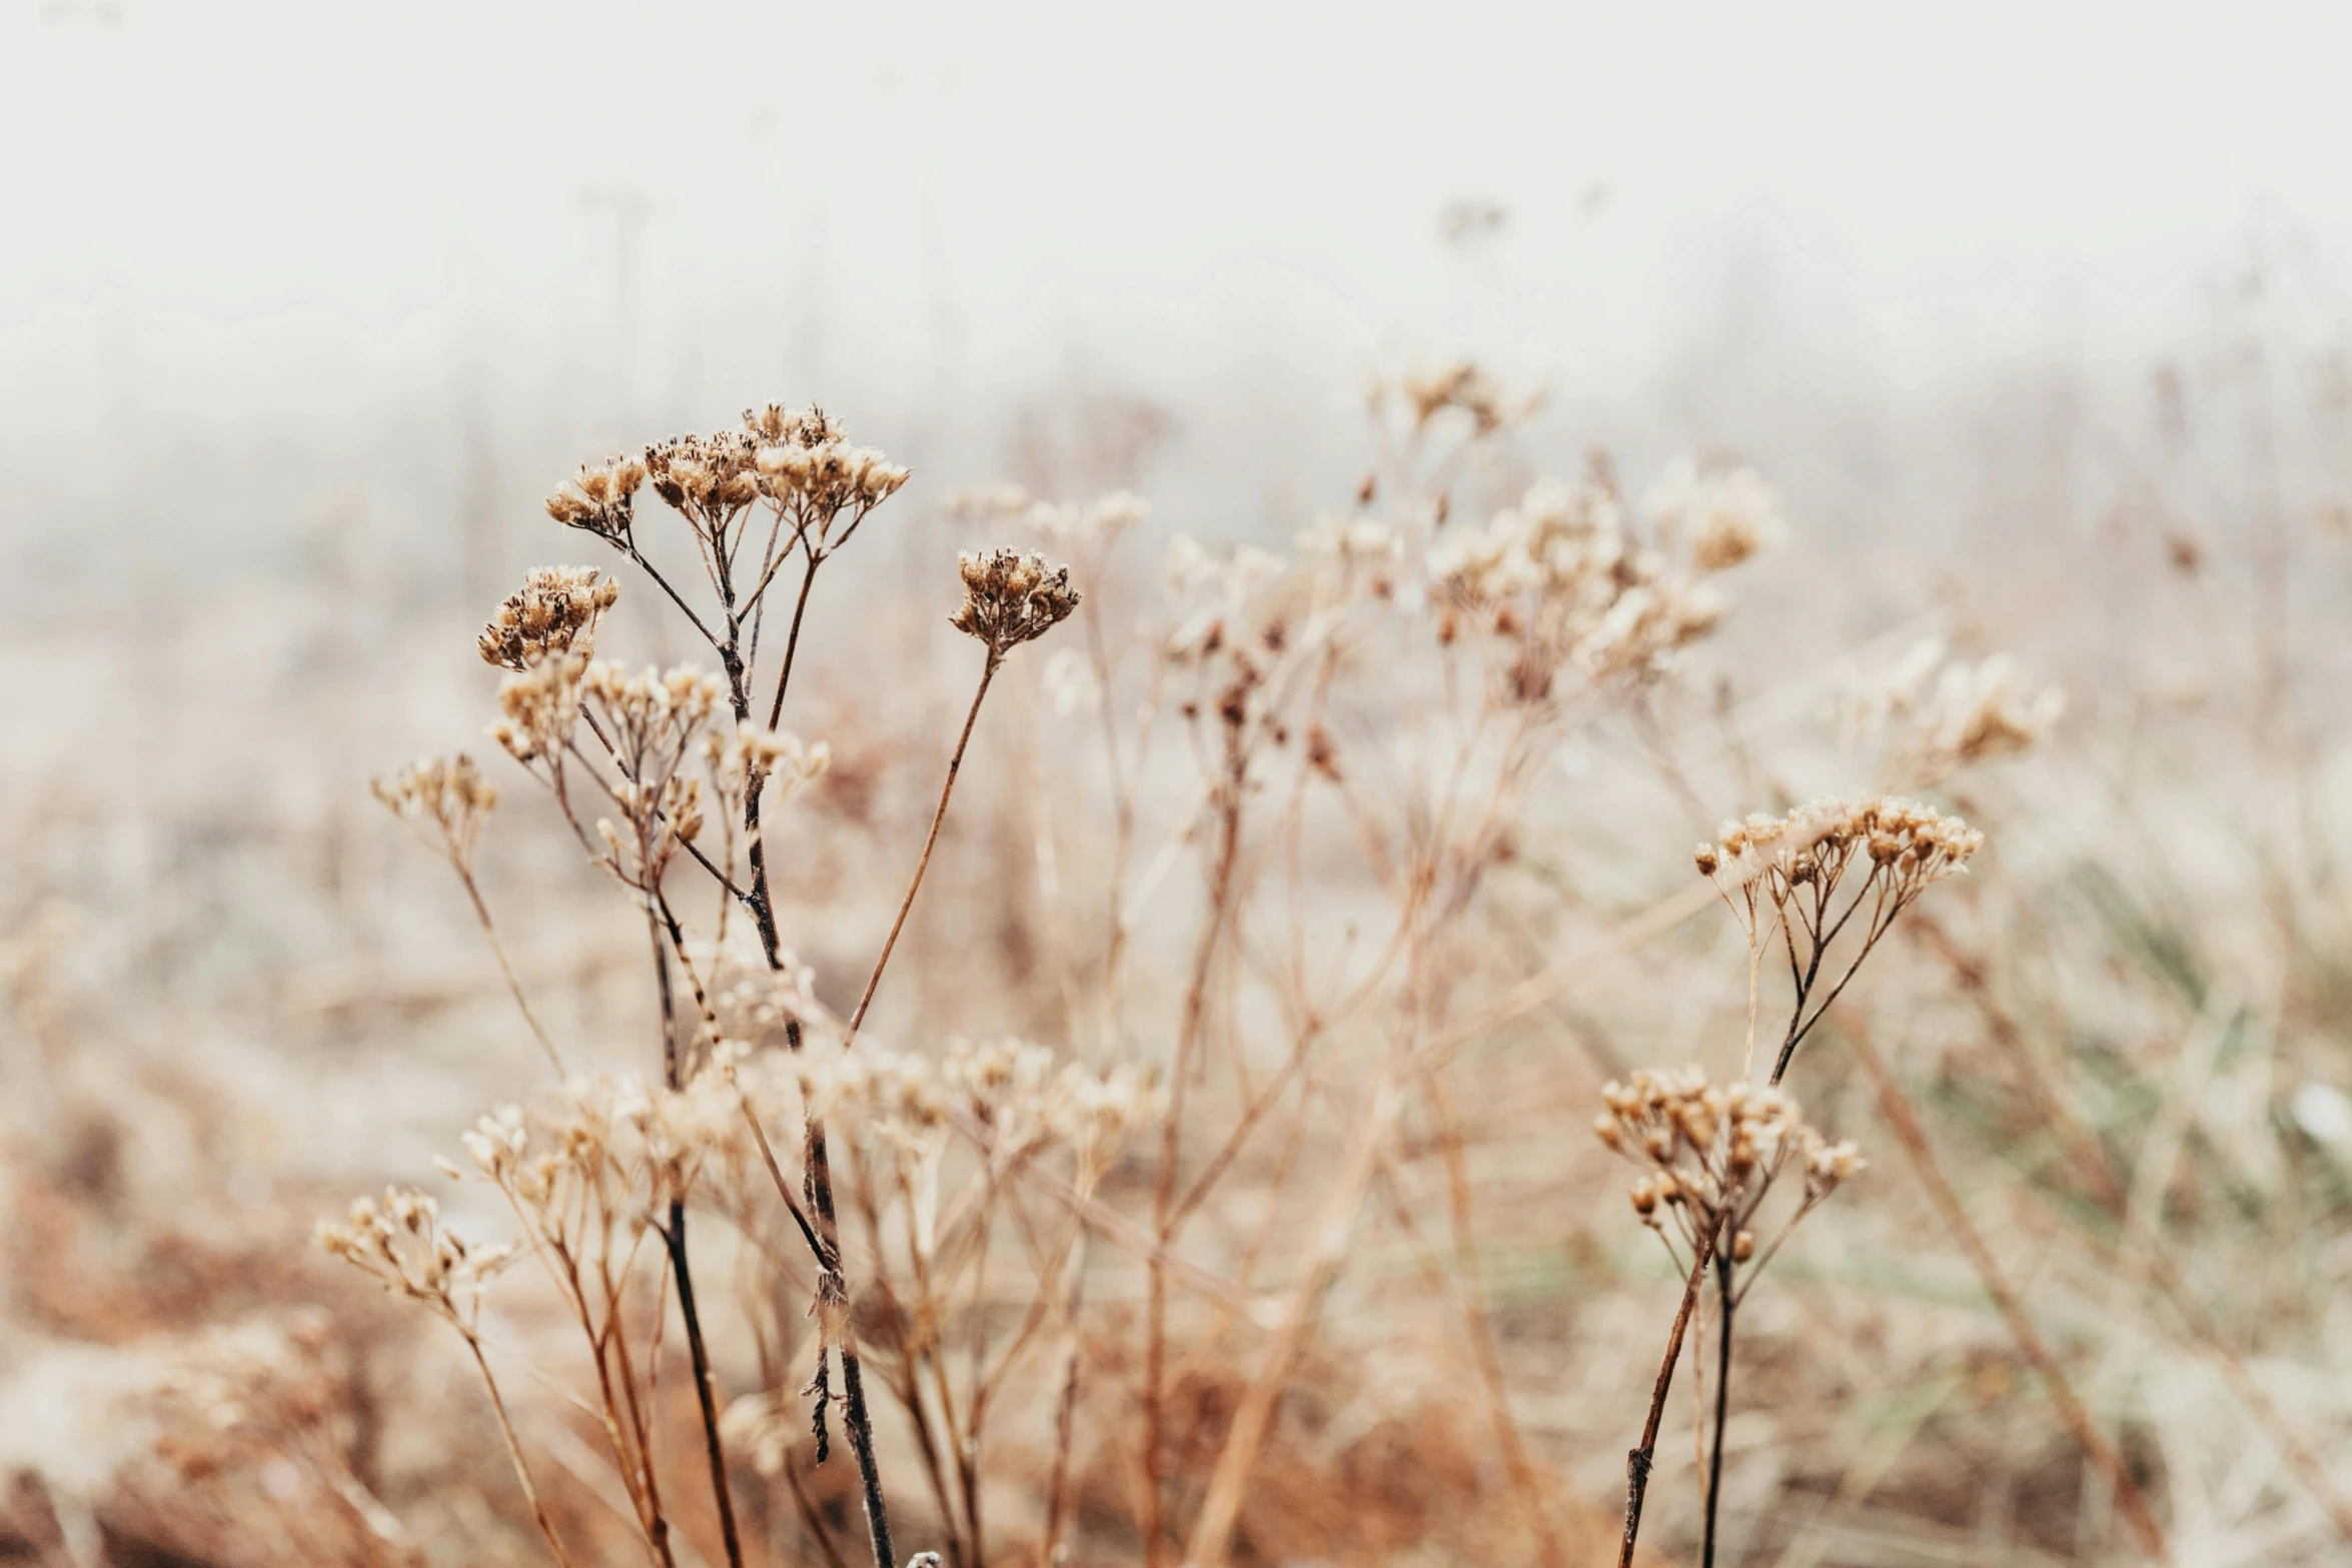
[[[2324,442],[1891,599],[1531,407],[1284,557],[757,409],[477,635],[103,649],[205,684],[9,780],[0,1556],[2340,1561]]]

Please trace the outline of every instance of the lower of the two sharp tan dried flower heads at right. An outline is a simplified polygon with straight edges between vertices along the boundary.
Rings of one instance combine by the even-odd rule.
[[[1762,1267],[1797,1220],[1863,1171],[1853,1143],[1825,1140],[1792,1098],[1745,1079],[1717,1088],[1696,1067],[1635,1072],[1604,1086],[1602,1103],[1592,1131],[1649,1171],[1632,1185],[1632,1208],[1668,1248],[1682,1239],[1684,1267],[1710,1239],[1719,1260]],[[1752,1222],[1790,1171],[1804,1187],[1797,1211],[1759,1253]]]

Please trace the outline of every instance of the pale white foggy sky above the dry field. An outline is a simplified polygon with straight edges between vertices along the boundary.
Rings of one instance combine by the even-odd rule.
[[[2343,16],[0,0],[0,414],[595,402],[614,193],[661,404],[1456,341],[1637,383],[1757,256],[1879,381],[2129,355],[2256,226],[2343,254]],[[1435,237],[1463,195],[1512,214],[1472,261]]]

